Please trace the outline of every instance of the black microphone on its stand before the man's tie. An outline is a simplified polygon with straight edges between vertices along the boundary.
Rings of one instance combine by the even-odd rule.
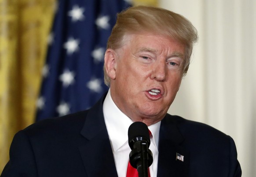
[[[150,135],[146,124],[134,122],[128,129],[128,144],[132,151],[129,158],[132,167],[136,168],[139,177],[148,177],[148,167],[153,163],[153,155],[150,151]]]

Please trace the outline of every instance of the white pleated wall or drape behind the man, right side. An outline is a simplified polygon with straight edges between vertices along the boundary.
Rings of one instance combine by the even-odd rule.
[[[190,69],[169,113],[234,138],[243,177],[256,176],[256,1],[159,0],[198,30]]]

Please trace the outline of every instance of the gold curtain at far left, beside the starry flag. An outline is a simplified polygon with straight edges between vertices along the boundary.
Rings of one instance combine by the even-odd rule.
[[[55,0],[0,0],[0,173],[14,134],[34,122]]]

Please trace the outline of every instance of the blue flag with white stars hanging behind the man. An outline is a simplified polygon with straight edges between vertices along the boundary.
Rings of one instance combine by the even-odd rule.
[[[129,6],[128,0],[59,0],[36,120],[88,109],[106,92],[106,42],[117,13]]]

